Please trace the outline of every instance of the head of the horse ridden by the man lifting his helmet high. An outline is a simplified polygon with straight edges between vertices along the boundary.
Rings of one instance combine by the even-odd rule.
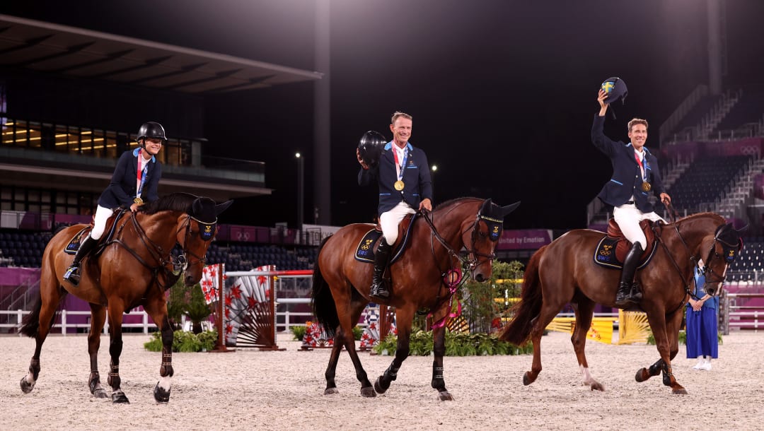
[[[704,289],[711,296],[721,291],[727,269],[732,265],[736,256],[743,249],[743,239],[740,230],[732,224],[721,224],[714,236],[707,236],[701,243],[701,259],[704,262],[703,275],[706,278]],[[704,250],[708,250],[704,252]]]

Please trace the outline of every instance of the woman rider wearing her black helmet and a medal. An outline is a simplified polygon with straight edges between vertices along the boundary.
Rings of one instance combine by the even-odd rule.
[[[63,279],[71,285],[79,285],[80,262],[98,243],[108,217],[111,217],[118,207],[129,207],[130,211],[135,212],[144,202],[156,201],[159,198],[157,185],[162,177],[162,164],[156,156],[166,142],[164,127],[149,121],[138,129],[138,148],[125,151],[119,157],[112,182],[98,200],[92,230],[80,244],[72,265],[63,275]]]

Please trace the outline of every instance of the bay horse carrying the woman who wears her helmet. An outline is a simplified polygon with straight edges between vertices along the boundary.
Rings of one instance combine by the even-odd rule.
[[[110,336],[109,354],[111,364],[108,384],[112,387],[114,403],[129,403],[121,390],[119,356],[122,352],[122,313],[142,305],[162,336],[162,362],[160,381],[154,387],[157,403],[170,400],[170,383],[173,376],[173,327],[167,319],[165,291],[180,278],[186,285],[195,285],[202,278],[205,255],[212,238],[217,233],[217,216],[232,201],[215,204],[210,198],[197,198],[186,193],[176,193],[147,203],[136,213],[127,211],[107,224],[115,226],[115,233],[99,246],[100,254],[87,256],[83,261],[82,278],[78,287],[63,281],[63,274],[72,263],[73,255],[64,252],[70,240],[87,225],[66,227],[56,233],[47,243],[40,270],[40,291],[31,313],[22,320],[20,333],[34,337],[37,346],[29,365],[29,372],[21,378],[21,391],[25,394],[34,389],[40,374],[40,349],[53,316],[63,297],[73,294],[90,305],[90,332],[88,353],[90,356],[90,393],[98,398],[107,397],[101,387],[98,369],[98,351],[101,331],[108,313]],[[104,237],[105,240],[105,237]],[[173,246],[179,243],[183,254],[173,256]],[[186,256],[189,256],[186,259]]]

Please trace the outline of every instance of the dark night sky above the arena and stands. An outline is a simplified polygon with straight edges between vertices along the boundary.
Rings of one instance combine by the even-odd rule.
[[[314,68],[309,0],[34,2],[0,11],[252,60]],[[707,83],[706,2],[631,0],[332,0],[332,224],[369,221],[376,188],[356,183],[366,130],[391,137],[393,111],[413,115],[435,201],[460,196],[523,201],[505,227],[584,227],[586,205],[610,178],[590,141],[597,88],[620,76],[626,105],[606,133],[650,122],[647,146],[696,85]],[[40,5],[46,5],[40,7]],[[183,5],[182,8],[173,5]],[[764,82],[764,2],[727,1],[724,88]],[[216,156],[266,162],[274,195],[243,199],[228,223],[296,221],[296,161],[312,156],[312,84],[206,100]],[[168,130],[171,135],[172,131]],[[312,166],[306,163],[306,223]]]

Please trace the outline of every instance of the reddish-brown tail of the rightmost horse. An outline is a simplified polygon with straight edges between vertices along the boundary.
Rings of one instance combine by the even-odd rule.
[[[543,296],[541,294],[541,284],[539,282],[539,260],[544,254],[546,246],[543,246],[531,256],[528,266],[526,266],[523,276],[523,291],[520,294],[520,302],[515,304],[510,313],[513,319],[499,336],[503,341],[522,346],[533,329],[533,323],[536,323],[536,317],[541,312]]]

